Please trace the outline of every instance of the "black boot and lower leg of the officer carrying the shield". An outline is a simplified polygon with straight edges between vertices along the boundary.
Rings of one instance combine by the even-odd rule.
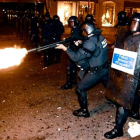
[[[104,134],[106,139],[114,139],[123,136],[123,126],[129,115],[129,110],[124,107],[118,107],[116,111],[116,125],[114,129]]]

